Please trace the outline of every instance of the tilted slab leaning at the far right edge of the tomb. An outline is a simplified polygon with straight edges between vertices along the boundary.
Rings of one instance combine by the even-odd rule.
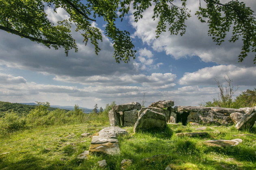
[[[240,130],[242,128],[251,128],[256,121],[256,110],[253,109],[246,113],[236,124],[236,129]]]

